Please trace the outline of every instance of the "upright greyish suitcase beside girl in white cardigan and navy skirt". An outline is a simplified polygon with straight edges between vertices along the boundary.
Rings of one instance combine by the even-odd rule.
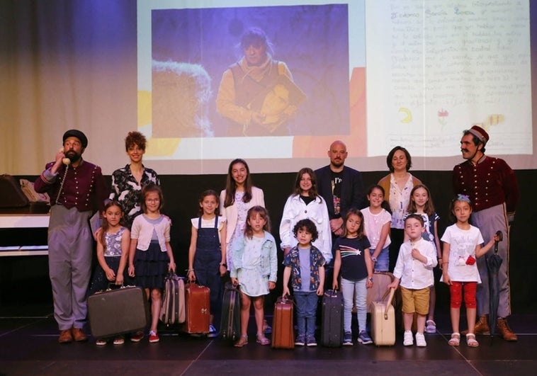
[[[159,318],[166,325],[182,324],[186,320],[185,283],[175,273],[170,273],[164,280]]]

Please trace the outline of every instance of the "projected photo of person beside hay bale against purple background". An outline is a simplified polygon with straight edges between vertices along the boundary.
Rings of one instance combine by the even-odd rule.
[[[213,159],[233,137],[350,135],[349,4],[152,8],[150,21],[139,127],[166,155],[200,138]],[[243,152],[259,158],[267,142]],[[281,142],[262,157],[288,156]]]

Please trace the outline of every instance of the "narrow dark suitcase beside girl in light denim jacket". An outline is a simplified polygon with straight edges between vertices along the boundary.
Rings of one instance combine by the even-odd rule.
[[[226,283],[224,287],[220,336],[232,341],[241,336],[241,292],[232,283]]]

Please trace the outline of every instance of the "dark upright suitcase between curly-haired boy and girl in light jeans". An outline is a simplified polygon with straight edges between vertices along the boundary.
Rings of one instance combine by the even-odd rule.
[[[327,290],[322,297],[321,344],[339,347],[343,343],[343,294]]]

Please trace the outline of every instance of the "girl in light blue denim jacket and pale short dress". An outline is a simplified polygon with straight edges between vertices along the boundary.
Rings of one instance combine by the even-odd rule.
[[[244,237],[238,238],[233,244],[233,260],[230,270],[231,281],[241,288],[241,338],[234,346],[248,344],[248,321],[250,306],[254,303],[257,334],[256,341],[261,345],[269,345],[263,331],[264,297],[276,287],[278,257],[276,241],[269,233],[269,212],[262,206],[253,206],[247,212]]]

